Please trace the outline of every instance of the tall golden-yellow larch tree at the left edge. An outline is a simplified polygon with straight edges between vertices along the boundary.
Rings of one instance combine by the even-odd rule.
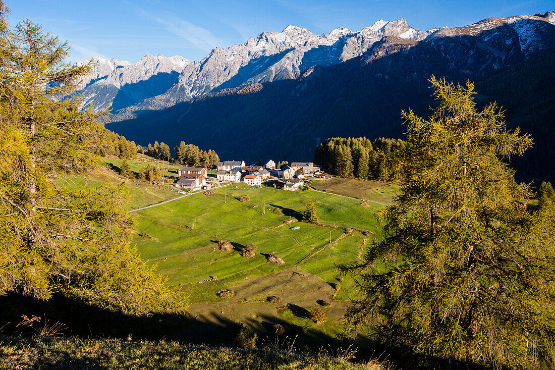
[[[103,112],[74,95],[88,64],[65,63],[67,43],[0,2],[0,294],[63,294],[128,314],[178,312],[184,302],[130,246],[125,187],[64,186],[112,145]],[[57,182],[60,180],[60,182]]]

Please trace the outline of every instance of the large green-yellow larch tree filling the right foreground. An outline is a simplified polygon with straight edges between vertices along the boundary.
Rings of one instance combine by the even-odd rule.
[[[502,161],[532,140],[508,132],[495,104],[478,111],[472,83],[431,82],[430,118],[403,112],[402,193],[379,213],[384,237],[341,267],[362,293],[345,318],[431,358],[552,367],[555,215],[527,210],[529,186]]]

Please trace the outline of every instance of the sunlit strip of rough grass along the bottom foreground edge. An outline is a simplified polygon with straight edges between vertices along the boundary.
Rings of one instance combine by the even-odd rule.
[[[361,366],[272,349],[209,347],[166,341],[0,337],[0,368],[355,370]],[[376,368],[377,369],[377,368]]]

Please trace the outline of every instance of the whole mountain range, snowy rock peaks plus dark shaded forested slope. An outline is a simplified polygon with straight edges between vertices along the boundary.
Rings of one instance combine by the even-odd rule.
[[[327,137],[401,137],[401,109],[426,114],[434,103],[432,74],[482,81],[553,47],[553,12],[430,31],[405,19],[322,36],[288,26],[200,62],[96,59],[82,92],[93,108],[111,103],[107,127],[138,143],[183,140],[223,158],[302,161]]]

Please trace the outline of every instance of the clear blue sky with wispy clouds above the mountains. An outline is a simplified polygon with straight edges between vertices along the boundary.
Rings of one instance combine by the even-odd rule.
[[[293,24],[316,34],[352,31],[380,18],[417,29],[457,27],[488,17],[555,10],[552,1],[397,0],[6,0],[11,24],[29,18],[72,45],[71,61],[94,56],[137,62],[145,53],[199,61],[215,47],[243,43]]]

